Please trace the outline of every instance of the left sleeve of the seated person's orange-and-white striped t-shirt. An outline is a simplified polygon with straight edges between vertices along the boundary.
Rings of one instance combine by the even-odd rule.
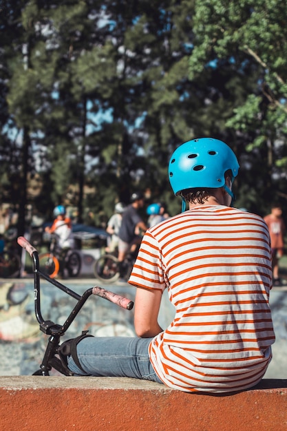
[[[168,286],[164,269],[164,259],[158,241],[147,231],[142,238],[129,283],[134,286],[164,291],[164,288]]]

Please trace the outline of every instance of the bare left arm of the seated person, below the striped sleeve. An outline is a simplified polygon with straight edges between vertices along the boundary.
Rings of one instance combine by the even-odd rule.
[[[161,299],[162,291],[158,289],[136,289],[134,327],[138,337],[155,337],[162,332],[158,324]]]

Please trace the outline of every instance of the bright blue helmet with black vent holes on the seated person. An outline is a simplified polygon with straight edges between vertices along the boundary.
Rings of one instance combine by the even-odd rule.
[[[176,195],[187,189],[216,189],[225,187],[226,171],[231,170],[234,180],[239,167],[234,152],[222,140],[193,139],[173,152],[169,160],[169,182]]]

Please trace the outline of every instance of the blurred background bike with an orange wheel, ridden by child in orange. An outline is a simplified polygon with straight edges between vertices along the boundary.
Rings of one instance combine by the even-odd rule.
[[[81,256],[74,250],[61,251],[56,245],[56,238],[52,235],[50,250],[39,254],[39,266],[41,271],[51,278],[56,277],[60,271],[60,261],[67,269],[69,277],[77,277],[81,271]]]

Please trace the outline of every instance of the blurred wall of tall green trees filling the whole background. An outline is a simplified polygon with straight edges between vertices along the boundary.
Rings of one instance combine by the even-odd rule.
[[[72,196],[100,223],[139,188],[173,215],[169,156],[214,136],[240,160],[237,202],[263,213],[286,190],[286,16],[275,0],[7,1],[2,198],[25,205],[15,178],[37,172],[43,213]]]

